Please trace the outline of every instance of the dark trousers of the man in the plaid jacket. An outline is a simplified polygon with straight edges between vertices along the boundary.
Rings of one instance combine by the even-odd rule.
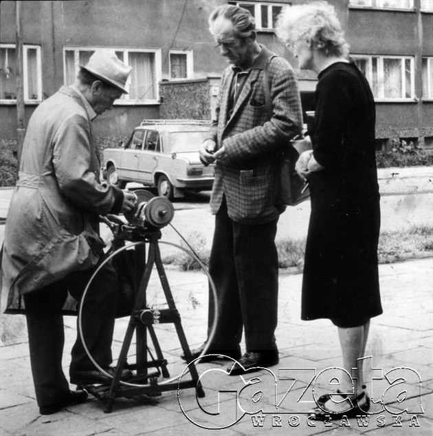
[[[245,329],[247,351],[275,344],[278,316],[278,219],[243,225],[227,215],[223,201],[215,217],[209,271],[216,287],[219,317],[211,349],[238,349]],[[210,294],[209,331],[214,321]]]

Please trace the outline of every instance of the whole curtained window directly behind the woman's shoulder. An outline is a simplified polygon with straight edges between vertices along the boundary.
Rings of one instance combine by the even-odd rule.
[[[353,55],[377,100],[410,100],[415,96],[413,56]]]

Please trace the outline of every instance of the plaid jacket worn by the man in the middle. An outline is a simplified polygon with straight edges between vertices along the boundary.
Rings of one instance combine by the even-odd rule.
[[[260,45],[260,52],[228,118],[233,69],[221,77],[216,117],[208,138],[225,146],[227,159],[217,161],[210,198],[212,214],[227,199],[230,218],[244,224],[269,222],[284,211],[278,196],[277,152],[301,132],[302,110],[298,80],[291,65],[279,56],[267,66],[272,115],[265,104],[263,74],[274,53]]]

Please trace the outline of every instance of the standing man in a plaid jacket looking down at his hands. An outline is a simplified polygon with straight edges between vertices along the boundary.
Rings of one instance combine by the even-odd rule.
[[[207,347],[207,354],[238,359],[241,366],[228,368],[236,375],[278,363],[275,236],[285,209],[278,205],[278,151],[301,132],[302,110],[291,65],[256,42],[254,18],[247,10],[220,6],[209,24],[221,55],[231,64],[221,78],[216,119],[200,148],[203,161],[216,162],[210,274],[219,316],[212,341],[192,357]],[[209,313],[211,328],[212,298]],[[241,357],[243,329],[247,350]]]

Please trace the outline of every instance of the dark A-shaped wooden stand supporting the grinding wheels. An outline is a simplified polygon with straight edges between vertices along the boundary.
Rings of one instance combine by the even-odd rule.
[[[174,391],[179,388],[196,388],[197,396],[204,397],[205,393],[199,382],[199,375],[194,362],[191,362],[192,355],[184,329],[181,324],[181,317],[177,311],[173,294],[170,290],[164,265],[162,263],[161,253],[159,251],[158,240],[161,238],[159,230],[146,231],[144,233],[134,231],[131,233],[132,240],[135,242],[135,303],[133,311],[129,318],[129,324],[126,329],[122,348],[118,358],[118,364],[115,368],[113,380],[110,386],[85,386],[93,396],[98,399],[105,399],[106,404],[104,413],[113,411],[113,402],[115,397],[133,397],[135,395],[149,394],[160,395],[163,391]],[[146,245],[148,245],[148,259],[146,262]],[[146,289],[153,267],[156,267],[159,280],[164,291],[168,309],[153,310],[146,306]],[[167,368],[167,361],[164,359],[162,349],[153,328],[153,324],[173,323],[177,332],[177,337],[184,351],[192,380],[181,380],[179,382],[168,382],[158,384],[157,377],[162,375],[165,378],[170,377]],[[136,363],[126,364],[126,357],[131,347],[133,333],[136,333]],[[148,360],[148,335],[155,349],[156,359],[151,355]],[[121,382],[122,370],[127,367],[137,372],[132,379],[127,382]],[[155,368],[156,371],[148,373],[149,368]],[[140,385],[140,382],[148,382],[146,385]]]

